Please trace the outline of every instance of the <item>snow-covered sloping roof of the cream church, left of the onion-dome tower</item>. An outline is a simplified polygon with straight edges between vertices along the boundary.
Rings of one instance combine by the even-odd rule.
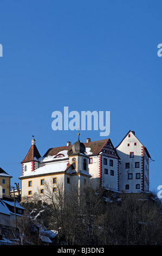
[[[20,178],[25,176],[35,176],[41,174],[64,172],[68,167],[68,163],[69,161],[44,164],[44,166],[34,170],[33,172],[24,174]]]

